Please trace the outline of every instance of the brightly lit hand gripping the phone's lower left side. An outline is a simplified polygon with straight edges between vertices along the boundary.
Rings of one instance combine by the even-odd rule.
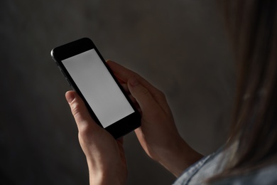
[[[65,94],[79,130],[79,141],[87,158],[89,184],[125,184],[127,178],[123,138],[111,134],[92,120],[84,102],[74,91]]]

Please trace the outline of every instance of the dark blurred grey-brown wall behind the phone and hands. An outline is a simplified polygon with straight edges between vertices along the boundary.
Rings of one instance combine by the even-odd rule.
[[[162,90],[182,137],[210,154],[227,139],[234,63],[215,0],[1,0],[0,184],[88,184],[55,46],[89,37],[104,58]],[[127,184],[175,177],[125,137]]]

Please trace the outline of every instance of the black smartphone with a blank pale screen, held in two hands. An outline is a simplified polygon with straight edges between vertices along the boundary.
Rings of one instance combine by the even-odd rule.
[[[58,46],[51,56],[98,125],[119,138],[141,124],[141,115],[89,38]]]

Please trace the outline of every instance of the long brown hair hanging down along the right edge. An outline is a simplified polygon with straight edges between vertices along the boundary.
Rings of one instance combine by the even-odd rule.
[[[277,162],[277,1],[219,0],[237,62],[237,94],[224,171],[244,174]]]

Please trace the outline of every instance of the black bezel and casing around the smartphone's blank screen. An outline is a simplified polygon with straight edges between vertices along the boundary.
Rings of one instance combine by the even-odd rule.
[[[109,125],[105,129],[112,134],[112,136],[117,139],[119,137],[124,136],[125,134],[128,134],[129,132],[133,131],[134,129],[141,126],[141,115],[138,110],[136,110],[136,107],[134,106],[133,102],[131,102],[129,96],[125,93],[124,89],[120,85],[119,81],[116,79],[114,74],[112,73],[112,70],[109,68],[109,65],[105,62],[104,58],[102,57],[101,53],[99,53],[98,49],[90,40],[89,38],[81,38],[77,41],[72,41],[70,43],[66,43],[63,46],[58,46],[56,48],[53,48],[51,51],[51,56],[55,60],[55,63],[58,65],[58,68],[60,68],[61,72],[65,76],[65,79],[70,84],[73,90],[75,90],[78,95],[82,98],[82,100],[85,102],[85,105],[87,107],[87,110],[89,111],[89,114],[92,116],[93,120],[97,122],[97,124],[101,127],[101,122],[97,119],[97,116],[94,114],[92,108],[87,103],[87,100],[85,100],[85,97],[82,95],[80,89],[74,82],[74,80],[71,78],[70,73],[67,72],[67,69],[62,63],[62,60],[65,60],[67,58],[70,58],[72,56],[76,56],[80,53],[83,53],[85,51],[89,51],[91,49],[94,49],[98,56],[101,58],[102,62],[106,66],[106,68],[109,70],[110,75],[112,75],[112,78],[114,78],[114,81],[119,86],[121,92],[124,94],[126,99],[129,101],[131,107],[134,109],[134,112],[131,115],[128,115],[124,117],[123,119],[113,123],[112,125]]]

